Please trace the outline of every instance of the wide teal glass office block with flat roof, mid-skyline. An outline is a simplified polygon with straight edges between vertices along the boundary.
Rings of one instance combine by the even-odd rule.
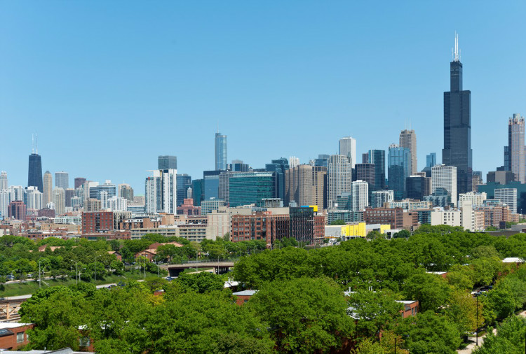
[[[231,174],[229,178],[229,206],[255,204],[262,199],[276,197],[274,172],[252,171]]]

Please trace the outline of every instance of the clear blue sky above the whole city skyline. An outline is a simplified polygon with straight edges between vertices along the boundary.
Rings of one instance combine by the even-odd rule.
[[[202,178],[228,160],[308,162],[357,139],[387,149],[411,122],[419,169],[443,148],[454,31],[471,90],[473,169],[503,164],[526,115],[526,1],[1,1],[0,170],[130,183],[158,155]]]

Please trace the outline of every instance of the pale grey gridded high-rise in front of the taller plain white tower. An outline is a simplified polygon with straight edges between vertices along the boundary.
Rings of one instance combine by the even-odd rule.
[[[333,208],[339,195],[352,191],[353,167],[349,157],[344,155],[331,155],[329,157],[327,180],[328,208]]]

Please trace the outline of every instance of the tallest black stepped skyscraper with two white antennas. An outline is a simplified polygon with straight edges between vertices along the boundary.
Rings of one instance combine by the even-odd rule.
[[[450,63],[450,91],[444,92],[444,148],[442,163],[457,167],[457,192],[472,190],[471,91],[462,90],[459,36],[455,34]]]

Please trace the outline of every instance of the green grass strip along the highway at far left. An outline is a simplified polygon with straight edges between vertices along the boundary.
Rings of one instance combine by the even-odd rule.
[[[147,276],[152,276],[153,274],[148,273]],[[155,274],[157,275],[157,274]],[[101,285],[101,284],[111,284],[111,283],[119,283],[119,281],[129,281],[129,280],[137,280],[142,279],[142,276],[138,272],[130,272],[126,271],[124,273],[124,276],[105,276],[103,279],[99,279],[97,277],[97,282],[93,282],[93,279],[91,283],[94,283],[95,285]],[[75,279],[72,278],[58,278],[58,279],[46,279],[46,283],[49,284],[49,286],[57,286],[57,285],[74,285],[76,283]],[[44,280],[42,280],[42,288],[47,288],[48,285],[44,284]],[[29,281],[27,283],[15,283],[15,284],[2,284],[0,285],[0,296],[1,297],[10,297],[10,296],[20,296],[20,295],[28,295],[32,294],[33,292],[36,292],[36,290],[39,290],[39,282],[38,281]]]

